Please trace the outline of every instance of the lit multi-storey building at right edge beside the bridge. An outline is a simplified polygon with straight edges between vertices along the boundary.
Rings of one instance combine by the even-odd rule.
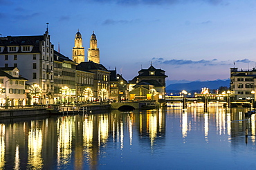
[[[233,100],[255,98],[256,70],[230,68],[230,96]]]

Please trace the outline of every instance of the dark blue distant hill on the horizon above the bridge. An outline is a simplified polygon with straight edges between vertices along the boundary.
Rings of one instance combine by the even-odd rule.
[[[207,82],[190,82],[181,84],[170,84],[166,87],[166,91],[201,91],[201,88],[207,87],[211,89],[218,89],[220,86],[230,86],[230,79],[228,80],[214,80]]]

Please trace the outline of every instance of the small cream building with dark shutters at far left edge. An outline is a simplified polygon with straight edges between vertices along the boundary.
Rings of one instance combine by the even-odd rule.
[[[17,67],[0,68],[0,105],[26,105],[25,84],[28,79],[19,75]]]

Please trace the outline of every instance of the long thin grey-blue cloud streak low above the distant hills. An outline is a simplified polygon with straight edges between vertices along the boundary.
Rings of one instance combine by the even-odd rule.
[[[199,64],[201,66],[218,66],[218,65],[231,65],[232,61],[227,60],[227,61],[219,61],[218,59],[212,59],[212,60],[205,60],[201,59],[199,61],[193,61],[189,59],[170,59],[170,60],[165,60],[163,58],[152,58],[154,63],[157,64],[166,64],[166,65],[172,65],[172,66],[182,66],[182,65],[192,65],[192,64]],[[239,63],[250,63],[253,62],[249,59],[241,59],[241,60],[236,60],[235,62]]]

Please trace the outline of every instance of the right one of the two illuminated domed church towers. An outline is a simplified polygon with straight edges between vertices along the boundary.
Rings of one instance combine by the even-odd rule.
[[[88,62],[89,61],[100,64],[100,50],[97,48],[97,39],[94,31],[91,35],[90,48],[88,49]]]

